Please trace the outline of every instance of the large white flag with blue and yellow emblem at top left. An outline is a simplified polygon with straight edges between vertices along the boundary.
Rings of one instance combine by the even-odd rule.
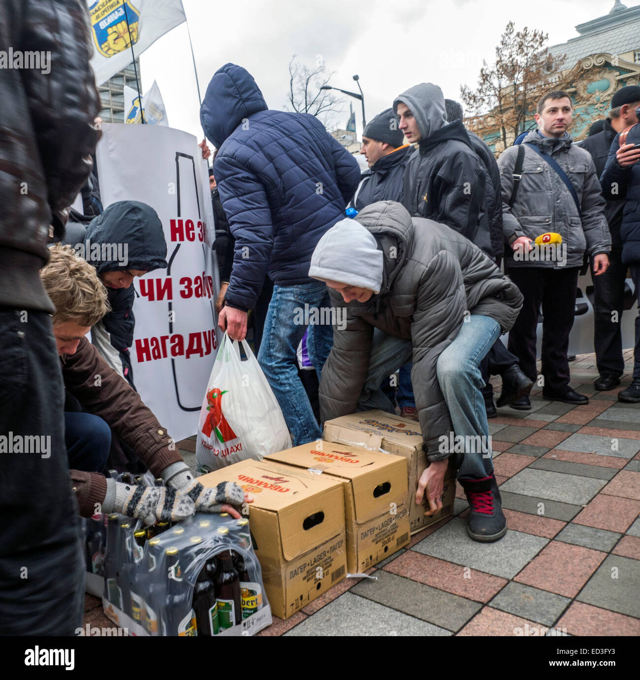
[[[96,85],[122,71],[164,33],[186,21],[181,0],[87,0]],[[133,45],[133,54],[131,46]]]

